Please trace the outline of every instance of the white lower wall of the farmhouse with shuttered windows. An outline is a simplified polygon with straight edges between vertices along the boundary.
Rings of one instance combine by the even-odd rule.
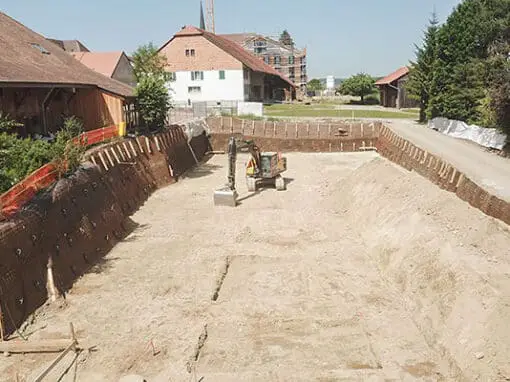
[[[175,72],[170,83],[170,95],[176,103],[193,101],[243,101],[244,78],[242,70],[225,70],[220,80],[218,70],[204,71],[203,80],[191,80],[191,72]],[[200,87],[200,93],[189,93],[189,87]]]

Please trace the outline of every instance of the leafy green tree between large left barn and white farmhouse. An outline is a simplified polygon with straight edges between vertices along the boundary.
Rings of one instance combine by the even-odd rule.
[[[168,93],[170,74],[166,58],[152,45],[143,45],[133,55],[138,111],[150,130],[164,126],[171,108]]]

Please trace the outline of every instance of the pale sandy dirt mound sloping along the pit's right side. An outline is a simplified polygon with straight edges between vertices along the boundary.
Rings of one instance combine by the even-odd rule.
[[[380,158],[330,189],[454,377],[510,378],[508,226]]]

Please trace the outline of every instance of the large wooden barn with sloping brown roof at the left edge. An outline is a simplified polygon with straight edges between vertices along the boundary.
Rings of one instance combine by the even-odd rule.
[[[125,122],[133,88],[89,69],[58,45],[0,12],[0,111],[19,134],[56,132],[67,116],[85,130]]]

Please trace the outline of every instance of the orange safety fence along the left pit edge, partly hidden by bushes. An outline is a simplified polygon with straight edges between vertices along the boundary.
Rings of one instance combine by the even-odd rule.
[[[74,142],[90,146],[119,135],[124,135],[124,133],[125,123],[121,123],[119,126],[113,125],[87,131],[80,135],[80,137],[75,138]],[[59,169],[57,165],[55,163],[48,163],[0,195],[0,220],[13,215],[24,204],[29,202],[39,190],[47,188],[56,182],[58,177]]]

